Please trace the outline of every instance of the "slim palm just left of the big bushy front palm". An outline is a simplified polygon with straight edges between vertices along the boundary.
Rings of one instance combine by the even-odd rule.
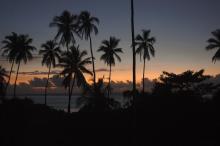
[[[40,55],[43,55],[42,65],[46,65],[49,68],[47,82],[45,85],[45,105],[47,104],[47,88],[50,78],[51,66],[56,66],[56,61],[60,59],[61,50],[57,43],[54,41],[47,41],[41,46],[43,49],[39,51]]]

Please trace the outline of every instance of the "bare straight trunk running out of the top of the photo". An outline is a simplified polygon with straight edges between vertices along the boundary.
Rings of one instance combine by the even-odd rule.
[[[132,53],[133,53],[133,101],[135,101],[136,93],[136,52],[134,38],[134,1],[131,0],[131,36],[132,36]]]

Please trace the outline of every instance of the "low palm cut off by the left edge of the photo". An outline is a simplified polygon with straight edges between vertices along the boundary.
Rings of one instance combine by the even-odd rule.
[[[5,83],[8,77],[6,70],[0,66],[0,98],[3,99],[5,95]]]

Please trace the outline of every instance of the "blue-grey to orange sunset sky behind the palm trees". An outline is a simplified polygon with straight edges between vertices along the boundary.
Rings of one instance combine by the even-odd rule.
[[[220,28],[219,0],[134,0],[135,33],[151,29],[155,36],[156,56],[146,63],[146,77],[157,78],[162,71],[180,73],[185,70],[205,69],[207,74],[220,73],[220,62],[213,64],[215,51],[207,52],[206,41],[211,32]],[[63,10],[79,14],[88,10],[100,19],[99,34],[93,36],[93,49],[97,50],[103,39],[115,36],[121,39],[122,62],[113,68],[113,80],[131,80],[132,54],[130,31],[130,0],[1,0],[0,1],[0,40],[12,31],[29,34],[38,50],[46,40],[53,39],[56,28],[49,28],[53,17]],[[81,49],[89,52],[89,42],[78,41]],[[2,44],[0,44],[2,47]],[[35,52],[37,54],[37,52]],[[95,53],[96,68],[107,68]],[[40,59],[35,59],[21,71],[46,71]],[[9,69],[9,64],[0,59],[0,64]],[[137,80],[142,74],[142,62],[137,56]],[[56,69],[55,69],[56,70]],[[98,76],[107,77],[107,72]],[[20,76],[20,81],[32,76]]]

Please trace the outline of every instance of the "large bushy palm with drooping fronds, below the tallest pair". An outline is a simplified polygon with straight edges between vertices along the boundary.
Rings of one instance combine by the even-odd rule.
[[[92,72],[86,68],[86,65],[91,64],[90,57],[84,58],[87,55],[86,51],[79,51],[79,46],[72,46],[69,52],[64,52],[59,66],[64,68],[61,75],[64,75],[63,84],[65,88],[69,88],[68,112],[70,113],[71,96],[73,86],[76,82],[78,87],[86,84],[84,73],[92,75]],[[72,84],[72,85],[71,85]]]

